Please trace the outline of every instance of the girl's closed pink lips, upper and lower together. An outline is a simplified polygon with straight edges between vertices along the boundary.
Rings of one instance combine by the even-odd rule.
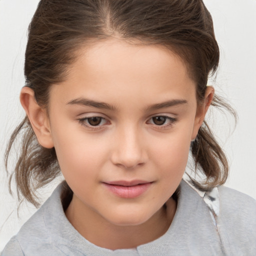
[[[113,194],[122,198],[135,198],[142,195],[152,184],[145,180],[117,180],[103,182],[104,186]]]

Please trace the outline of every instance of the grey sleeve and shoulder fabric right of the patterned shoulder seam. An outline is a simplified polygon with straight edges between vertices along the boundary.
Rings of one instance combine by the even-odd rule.
[[[256,200],[220,186],[217,228],[227,255],[256,255]]]

